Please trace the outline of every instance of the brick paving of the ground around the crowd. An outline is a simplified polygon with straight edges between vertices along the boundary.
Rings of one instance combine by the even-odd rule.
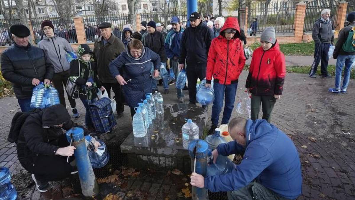
[[[241,74],[237,95],[245,90],[246,75],[246,71]],[[355,198],[355,83],[350,80],[348,94],[329,93],[327,89],[333,85],[334,78],[311,79],[305,74],[288,73],[282,99],[275,104],[272,113],[271,123],[291,137],[300,154],[303,185],[299,199]],[[170,86],[170,94],[164,95],[165,104],[176,102],[174,86]],[[187,101],[188,94],[185,91]],[[85,111],[80,101],[77,101],[77,107],[82,114],[77,122],[82,124]],[[208,109],[208,118],[211,116],[211,107]],[[26,182],[23,188],[19,186],[17,189],[21,193],[20,197],[61,199],[66,194],[74,194],[72,189],[65,186],[65,181],[53,183],[54,189],[49,195],[41,195],[35,190],[30,176],[24,173],[18,163],[15,145],[6,141],[12,116],[19,110],[14,97],[0,99],[0,166],[9,167],[12,176],[20,174],[22,182]],[[235,116],[240,115],[233,111],[232,117]],[[208,126],[210,124],[208,121]],[[128,107],[124,117],[118,120],[117,129],[125,134],[131,131]],[[121,137],[125,134],[121,134]],[[174,176],[142,170],[136,177],[120,175],[122,183],[117,187],[119,190],[109,191],[107,188],[113,187],[105,184],[100,184],[100,189],[107,194],[114,192],[122,199],[179,199],[184,196],[181,188],[185,187],[184,183],[189,183],[189,179],[186,175],[180,175],[175,180]],[[73,185],[75,188],[78,183]]]

